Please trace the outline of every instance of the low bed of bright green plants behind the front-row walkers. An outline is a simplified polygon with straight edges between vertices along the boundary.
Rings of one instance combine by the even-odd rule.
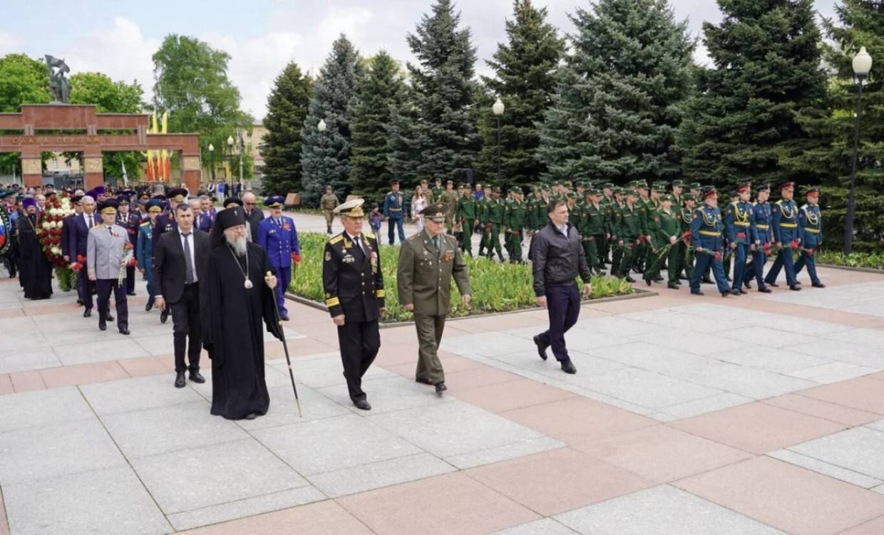
[[[322,258],[324,234],[304,233],[301,241],[301,265],[295,270],[289,291],[303,298],[324,301]],[[386,290],[387,321],[411,320],[412,314],[399,304],[396,287],[396,263],[399,258],[399,245],[382,245],[380,249],[381,269],[384,271]],[[472,303],[461,304],[461,295],[452,284],[451,316],[469,316],[484,313],[502,313],[522,310],[535,306],[532,288],[531,268],[526,264],[502,264],[485,258],[467,257],[469,283],[473,289]],[[592,298],[608,298],[633,293],[632,286],[611,276],[592,277]]]

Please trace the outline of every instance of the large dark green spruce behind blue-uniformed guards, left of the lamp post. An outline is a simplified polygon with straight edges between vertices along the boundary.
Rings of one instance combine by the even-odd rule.
[[[697,95],[682,125],[684,172],[728,187],[805,182],[782,161],[812,148],[796,116],[818,109],[825,95],[813,0],[719,6],[720,24],[703,25],[713,65],[697,70]]]

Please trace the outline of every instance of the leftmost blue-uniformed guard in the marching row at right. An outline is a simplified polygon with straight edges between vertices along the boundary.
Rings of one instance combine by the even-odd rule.
[[[713,186],[706,186],[703,188],[703,205],[694,210],[694,219],[690,222],[690,245],[697,254],[697,265],[694,266],[694,273],[690,278],[690,293],[693,295],[703,295],[700,291],[700,278],[710,263],[721,297],[727,298],[730,295],[730,287],[721,264],[724,256],[722,230],[724,224],[718,209],[718,192]]]

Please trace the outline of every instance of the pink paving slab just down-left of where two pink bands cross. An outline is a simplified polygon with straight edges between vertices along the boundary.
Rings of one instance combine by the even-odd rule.
[[[654,485],[648,479],[569,448],[553,449],[464,473],[544,516]]]

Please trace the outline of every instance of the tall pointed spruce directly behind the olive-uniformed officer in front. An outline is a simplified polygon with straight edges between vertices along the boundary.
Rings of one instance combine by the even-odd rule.
[[[478,136],[470,112],[476,49],[460,20],[451,0],[438,0],[415,34],[408,34],[418,62],[408,64],[412,98],[397,110],[390,131],[393,169],[403,172],[400,179],[462,178],[476,160]]]

